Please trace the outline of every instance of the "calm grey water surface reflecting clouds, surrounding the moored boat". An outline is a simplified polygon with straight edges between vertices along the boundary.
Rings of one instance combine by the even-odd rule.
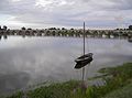
[[[86,77],[101,67],[132,61],[132,43],[127,40],[87,39],[86,52],[94,62],[86,67]],[[82,39],[21,37],[0,40],[0,92],[10,92],[45,80],[80,79],[74,69],[75,58],[82,54]]]

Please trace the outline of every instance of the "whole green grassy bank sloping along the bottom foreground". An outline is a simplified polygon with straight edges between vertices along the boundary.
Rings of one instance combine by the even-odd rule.
[[[80,88],[80,81],[53,83],[26,92],[19,91],[4,98],[132,98],[132,63],[118,67],[101,68],[102,86]],[[25,97],[25,98],[26,98]],[[3,97],[1,97],[3,98]]]

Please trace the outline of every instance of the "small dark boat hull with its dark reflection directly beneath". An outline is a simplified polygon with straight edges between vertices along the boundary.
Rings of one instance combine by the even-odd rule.
[[[75,68],[81,68],[84,66],[86,66],[87,64],[90,64],[90,62],[94,59],[92,58],[92,53],[88,53],[88,54],[85,54],[78,58],[75,59],[75,62],[77,63]]]

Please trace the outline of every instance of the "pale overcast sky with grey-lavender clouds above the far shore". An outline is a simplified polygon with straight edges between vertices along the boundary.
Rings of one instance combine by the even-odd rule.
[[[128,28],[132,0],[0,0],[0,25],[33,28]]]

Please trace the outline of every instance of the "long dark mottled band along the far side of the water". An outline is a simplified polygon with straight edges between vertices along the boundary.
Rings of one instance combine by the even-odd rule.
[[[1,35],[81,37],[82,30],[0,30]],[[130,30],[86,30],[86,37],[129,37]]]

